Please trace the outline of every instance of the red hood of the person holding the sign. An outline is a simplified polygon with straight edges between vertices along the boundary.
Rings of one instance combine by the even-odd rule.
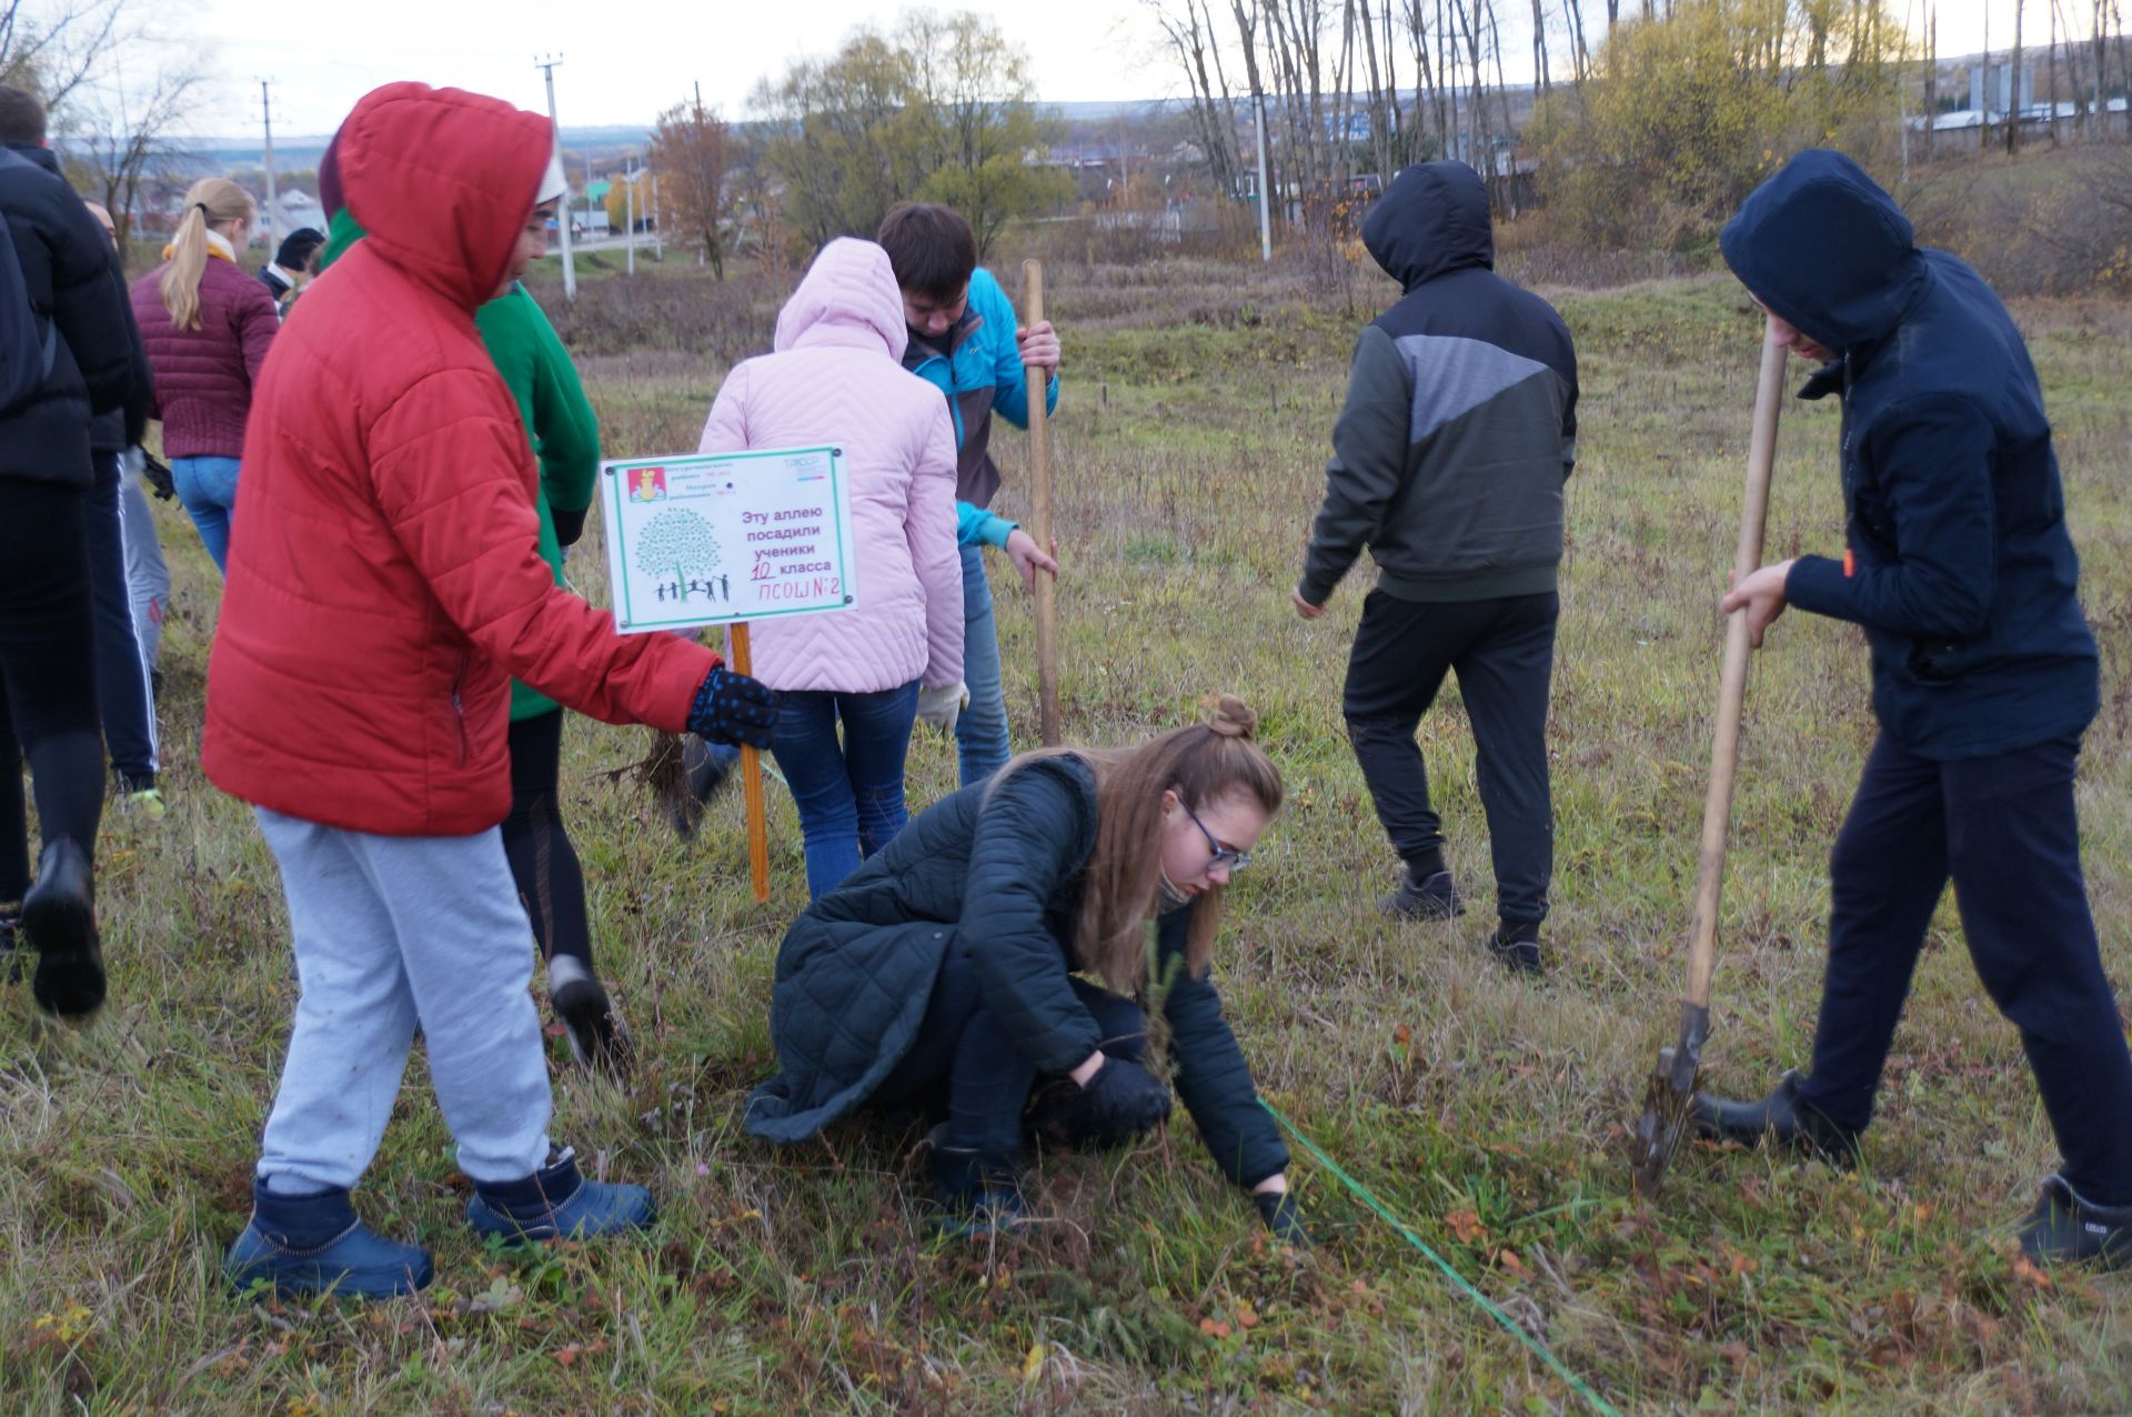
[[[426,83],[373,89],[333,141],[371,249],[469,311],[510,275],[552,156],[546,117]]]

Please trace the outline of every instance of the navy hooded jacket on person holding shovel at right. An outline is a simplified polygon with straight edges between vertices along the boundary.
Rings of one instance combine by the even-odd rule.
[[[1848,158],[1806,151],[1721,237],[1755,296],[1831,349],[1848,558],[1799,556],[1793,605],[1872,646],[1874,712],[1925,759],[2013,752],[2096,716],[2096,641],[2042,390],[2013,317]]]

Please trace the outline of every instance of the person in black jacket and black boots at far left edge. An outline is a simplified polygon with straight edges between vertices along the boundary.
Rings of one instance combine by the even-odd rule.
[[[36,147],[45,109],[0,85],[0,145]],[[58,175],[0,151],[6,217],[28,311],[45,347],[36,392],[0,409],[0,944],[38,950],[32,991],[58,1014],[104,999],[92,854],[104,801],[85,503],[90,420],[132,392],[134,341],[111,243]],[[43,833],[30,878],[21,761]],[[19,901],[17,908],[11,908]]]

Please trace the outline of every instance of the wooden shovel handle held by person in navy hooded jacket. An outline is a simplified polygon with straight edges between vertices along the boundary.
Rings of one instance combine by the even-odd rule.
[[[1746,499],[1740,505],[1740,548],[1733,580],[1761,567],[1761,537],[1770,522],[1770,469],[1776,465],[1776,418],[1784,403],[1784,345],[1763,330],[1761,377],[1755,384],[1755,437],[1746,454]],[[1703,795],[1703,844],[1695,863],[1695,921],[1689,927],[1689,995],[1710,1008],[1710,974],[1718,952],[1718,897],[1725,893],[1725,837],[1731,827],[1733,776],[1740,767],[1740,710],[1746,703],[1746,609],[1725,622],[1725,669],[1718,675],[1718,724],[1710,744],[1710,791]]]

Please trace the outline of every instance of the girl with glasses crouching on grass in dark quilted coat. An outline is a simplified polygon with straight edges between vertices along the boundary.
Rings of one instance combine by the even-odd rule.
[[[785,933],[780,1072],[748,1097],[746,1129],[791,1144],[861,1106],[927,1108],[944,1114],[944,1227],[1013,1227],[1025,1121],[1104,1146],[1168,1117],[1138,1001],[1153,991],[1170,1080],[1215,1163],[1275,1234],[1305,1238],[1288,1149],[1209,978],[1222,889],[1281,808],[1254,731],[1224,697],[1211,722],[1130,750],[1025,754],[919,814]]]

